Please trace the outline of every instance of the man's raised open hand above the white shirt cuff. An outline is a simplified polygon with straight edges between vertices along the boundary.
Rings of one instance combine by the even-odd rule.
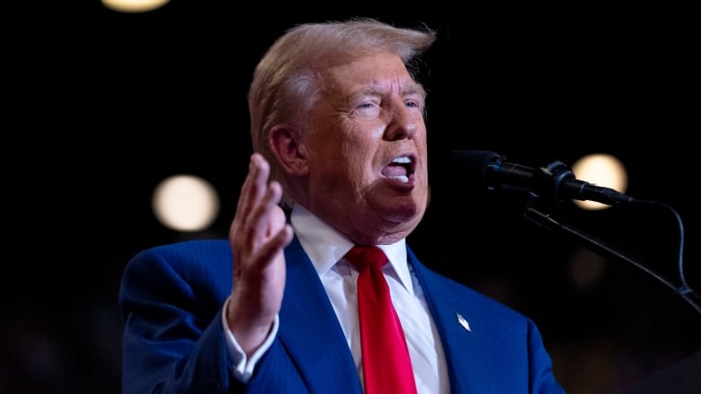
[[[247,355],[262,344],[280,311],[285,289],[284,248],[292,228],[280,208],[282,188],[269,182],[271,167],[253,153],[241,188],[229,242],[234,253],[234,285],[226,318]]]

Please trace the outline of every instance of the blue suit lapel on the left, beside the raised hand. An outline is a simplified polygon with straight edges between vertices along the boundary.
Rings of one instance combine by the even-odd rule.
[[[297,237],[285,250],[287,282],[280,342],[311,392],[357,392],[360,383],[346,337],[319,276]]]

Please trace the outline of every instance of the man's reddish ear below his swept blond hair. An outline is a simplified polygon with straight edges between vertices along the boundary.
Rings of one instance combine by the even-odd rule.
[[[280,167],[291,175],[305,175],[308,171],[306,147],[301,136],[300,129],[285,124],[275,125],[268,135],[268,144]]]

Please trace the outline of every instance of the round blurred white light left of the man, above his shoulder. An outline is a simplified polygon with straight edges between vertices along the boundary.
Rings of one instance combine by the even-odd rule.
[[[151,202],[158,221],[181,232],[205,230],[219,213],[217,190],[208,181],[191,175],[161,181]]]

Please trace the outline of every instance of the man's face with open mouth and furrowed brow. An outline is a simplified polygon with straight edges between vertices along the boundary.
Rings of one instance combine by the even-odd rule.
[[[428,197],[425,93],[394,54],[327,68],[302,133],[306,207],[357,243],[392,243]]]

